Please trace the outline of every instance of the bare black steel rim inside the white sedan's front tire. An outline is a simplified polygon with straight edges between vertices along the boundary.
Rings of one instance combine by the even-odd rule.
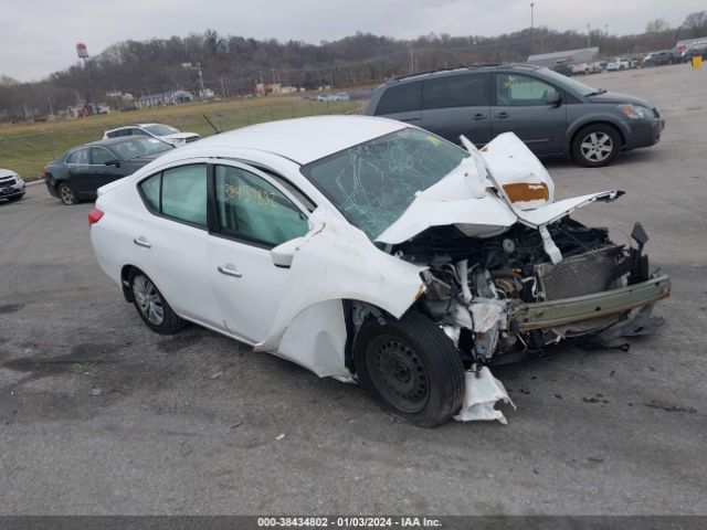
[[[395,409],[414,414],[430,400],[430,380],[422,359],[398,337],[382,335],[366,348],[373,384]]]

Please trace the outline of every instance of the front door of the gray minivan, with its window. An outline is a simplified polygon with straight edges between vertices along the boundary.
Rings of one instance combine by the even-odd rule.
[[[547,96],[564,92],[538,77],[494,73],[492,136],[515,132],[536,155],[560,155],[567,129],[567,106],[548,104]]]

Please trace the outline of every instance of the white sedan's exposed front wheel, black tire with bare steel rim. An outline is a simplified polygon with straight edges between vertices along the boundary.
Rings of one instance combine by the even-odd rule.
[[[370,318],[354,343],[358,381],[383,410],[420,427],[447,422],[462,406],[458,351],[428,317],[408,311],[381,325]]]

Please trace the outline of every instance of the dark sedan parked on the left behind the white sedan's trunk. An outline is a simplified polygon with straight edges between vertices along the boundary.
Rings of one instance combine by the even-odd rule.
[[[125,137],[74,147],[44,167],[49,192],[64,204],[94,200],[97,190],[133,174],[166,151],[169,144],[156,138]]]

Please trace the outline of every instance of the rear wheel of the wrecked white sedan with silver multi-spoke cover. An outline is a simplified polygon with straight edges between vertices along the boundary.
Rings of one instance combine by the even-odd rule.
[[[148,328],[160,335],[172,335],[187,326],[143,271],[133,268],[128,282],[135,309]]]

